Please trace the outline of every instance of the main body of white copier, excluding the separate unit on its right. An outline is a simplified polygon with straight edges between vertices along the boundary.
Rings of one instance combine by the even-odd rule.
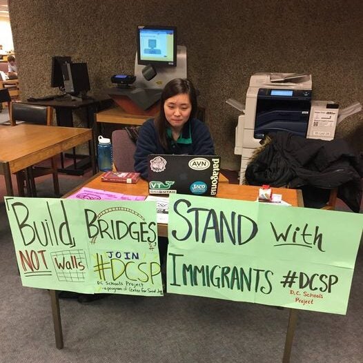
[[[235,154],[242,155],[239,184],[242,184],[248,159],[260,146],[265,133],[285,130],[306,137],[311,88],[311,75],[256,73],[250,79],[245,110],[236,106],[234,100],[226,101],[242,111],[235,132]]]

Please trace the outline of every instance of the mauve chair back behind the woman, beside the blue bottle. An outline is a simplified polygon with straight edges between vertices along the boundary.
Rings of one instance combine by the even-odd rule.
[[[135,171],[134,153],[136,144],[126,130],[115,130],[112,133],[113,164],[117,171]]]

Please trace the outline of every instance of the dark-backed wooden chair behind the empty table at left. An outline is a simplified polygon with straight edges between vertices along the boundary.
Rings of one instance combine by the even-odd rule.
[[[52,123],[52,108],[12,103],[10,106],[10,121],[12,126],[16,126],[17,121],[50,126]],[[51,166],[31,166],[30,168],[17,173],[19,195],[24,195],[24,181],[26,181],[28,194],[36,197],[37,190],[35,188],[35,178],[48,174],[52,174],[55,195],[59,195],[57,159],[55,157],[51,158]]]

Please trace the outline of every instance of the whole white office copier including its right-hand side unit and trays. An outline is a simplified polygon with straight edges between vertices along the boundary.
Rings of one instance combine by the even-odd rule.
[[[297,73],[256,73],[250,79],[246,106],[227,99],[242,112],[235,132],[235,154],[241,156],[239,184],[248,160],[269,131],[284,130],[307,139],[331,140],[337,124],[362,110],[355,102],[339,109],[334,101],[312,100],[311,75]]]

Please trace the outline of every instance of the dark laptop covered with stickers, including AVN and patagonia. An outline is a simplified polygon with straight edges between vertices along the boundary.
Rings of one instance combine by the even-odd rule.
[[[149,194],[217,195],[216,155],[148,155]]]

